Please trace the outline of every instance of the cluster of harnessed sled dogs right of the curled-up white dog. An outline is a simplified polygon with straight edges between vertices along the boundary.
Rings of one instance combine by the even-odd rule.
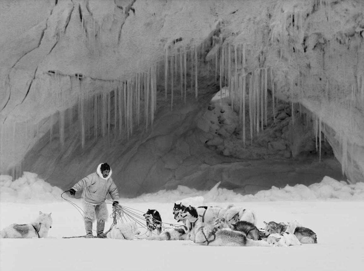
[[[157,210],[149,210],[147,222],[152,233],[161,225]],[[154,216],[154,214],[156,214]],[[158,235],[150,235],[150,240],[192,240],[198,245],[211,246],[294,246],[301,243],[317,243],[316,234],[297,221],[288,224],[271,221],[264,222],[265,231],[256,227],[256,215],[248,209],[208,206],[184,206],[174,204],[174,219],[182,222],[176,228],[166,229]],[[146,216],[147,214],[145,214]],[[157,223],[155,223],[157,222]],[[153,225],[154,223],[154,225]]]

